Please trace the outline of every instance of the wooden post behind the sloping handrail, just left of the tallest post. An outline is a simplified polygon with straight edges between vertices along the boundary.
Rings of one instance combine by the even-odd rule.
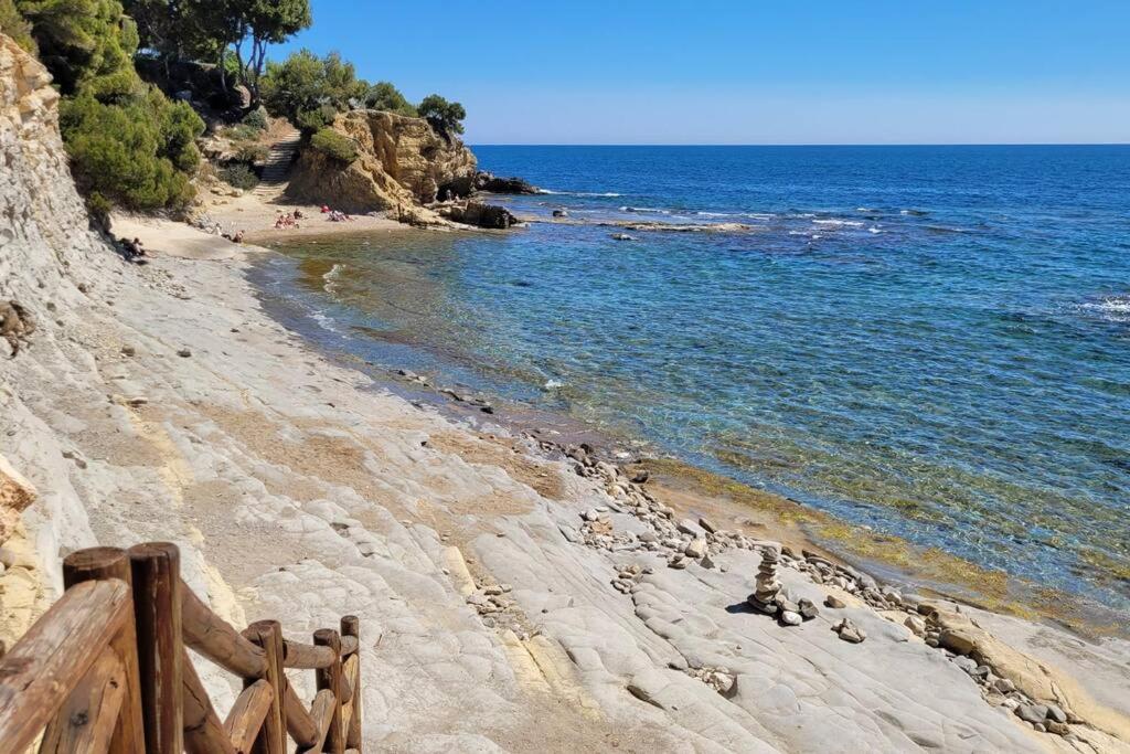
[[[118,547],[88,547],[63,558],[63,587],[70,589],[84,581],[120,579],[132,586],[130,558]],[[136,609],[136,608],[134,608]],[[125,691],[121,711],[110,740],[110,754],[140,754],[145,751],[145,722],[141,714],[141,679],[138,671],[137,631],[133,621],[111,642],[123,668]]]

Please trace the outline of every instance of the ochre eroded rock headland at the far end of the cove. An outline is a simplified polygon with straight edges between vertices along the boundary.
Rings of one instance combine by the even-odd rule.
[[[288,196],[294,199],[348,213],[399,206],[426,220],[432,217],[419,205],[447,190],[470,190],[475,155],[459,139],[449,142],[438,136],[421,118],[354,111],[339,115],[332,128],[357,145],[357,158],[344,165],[307,147],[292,173]]]

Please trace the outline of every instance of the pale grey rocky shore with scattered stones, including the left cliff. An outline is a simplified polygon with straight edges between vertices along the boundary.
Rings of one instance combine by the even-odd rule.
[[[486,405],[473,427],[403,400],[270,319],[254,248],[197,234],[191,254],[127,262],[88,229],[42,67],[0,53],[0,301],[36,322],[15,356],[0,341],[0,500],[23,506],[5,519],[5,641],[60,593],[60,556],[167,540],[233,624],[308,636],[357,615],[363,735],[382,751],[1130,749],[1124,643],[895,599]],[[817,607],[829,597],[843,607]],[[238,683],[195,665],[226,714]]]

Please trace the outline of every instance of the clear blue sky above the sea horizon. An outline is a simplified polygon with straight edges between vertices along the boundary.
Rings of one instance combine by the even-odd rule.
[[[470,144],[1130,141],[1130,0],[312,0]]]

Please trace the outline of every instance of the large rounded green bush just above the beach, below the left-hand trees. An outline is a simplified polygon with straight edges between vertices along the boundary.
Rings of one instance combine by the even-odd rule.
[[[200,159],[195,138],[203,122],[186,104],[157,90],[125,104],[82,94],[62,102],[59,127],[92,207],[180,208],[192,198],[189,171]]]

